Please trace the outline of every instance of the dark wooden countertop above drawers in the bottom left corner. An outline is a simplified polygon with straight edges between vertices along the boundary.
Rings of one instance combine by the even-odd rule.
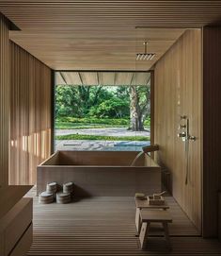
[[[33,186],[4,186],[0,188],[0,218],[32,188]]]

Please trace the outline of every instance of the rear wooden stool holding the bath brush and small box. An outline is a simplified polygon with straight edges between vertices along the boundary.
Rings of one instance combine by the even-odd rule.
[[[139,234],[140,229],[141,229],[141,217],[140,217],[140,210],[142,209],[151,209],[151,210],[156,210],[156,209],[160,209],[160,210],[166,210],[169,209],[167,203],[165,202],[164,205],[150,205],[148,200],[141,200],[141,199],[137,199],[135,198],[135,227],[136,230]]]

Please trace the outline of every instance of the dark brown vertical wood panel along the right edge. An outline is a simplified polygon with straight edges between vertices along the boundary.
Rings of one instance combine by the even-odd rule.
[[[203,234],[218,234],[221,190],[221,27],[203,29]]]

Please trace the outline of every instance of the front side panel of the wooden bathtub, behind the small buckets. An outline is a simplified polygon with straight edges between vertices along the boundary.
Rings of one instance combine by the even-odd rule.
[[[60,186],[74,182],[76,197],[134,196],[136,192],[151,195],[162,191],[161,169],[155,166],[38,166],[38,194],[52,181]]]

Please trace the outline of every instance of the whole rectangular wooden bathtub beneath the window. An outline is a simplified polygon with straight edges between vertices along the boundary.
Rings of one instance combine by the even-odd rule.
[[[134,196],[161,192],[161,168],[134,151],[57,151],[37,167],[37,192],[48,182],[74,183],[75,196]]]

